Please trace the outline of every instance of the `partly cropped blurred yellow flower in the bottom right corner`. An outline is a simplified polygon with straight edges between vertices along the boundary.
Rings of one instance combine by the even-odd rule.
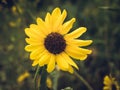
[[[111,76],[106,75],[103,83],[105,85],[103,90],[120,90],[117,81]]]

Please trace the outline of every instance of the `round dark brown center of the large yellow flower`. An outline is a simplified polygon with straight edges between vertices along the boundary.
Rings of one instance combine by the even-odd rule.
[[[61,34],[52,32],[45,38],[44,45],[49,52],[59,54],[64,51],[66,42]]]

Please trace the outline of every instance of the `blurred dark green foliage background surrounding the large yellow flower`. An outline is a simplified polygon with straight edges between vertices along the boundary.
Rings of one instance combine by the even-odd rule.
[[[0,0],[0,90],[34,90],[35,68],[24,50],[24,29],[36,23],[37,17],[44,19],[55,7],[67,10],[66,21],[76,18],[72,30],[79,26],[88,28],[81,39],[94,41],[87,47],[93,53],[87,60],[76,62],[80,68],[77,72],[94,90],[102,90],[105,75],[111,74],[120,81],[119,5],[120,0]],[[25,71],[30,77],[18,83],[17,78]],[[69,86],[73,90],[88,90],[67,72],[53,72],[50,77],[53,89]]]

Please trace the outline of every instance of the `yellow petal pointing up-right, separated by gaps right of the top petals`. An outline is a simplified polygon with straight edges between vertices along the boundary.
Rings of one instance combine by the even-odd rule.
[[[75,18],[72,18],[70,21],[67,21],[66,23],[64,23],[59,33],[61,34],[68,33],[70,29],[72,28],[74,22],[75,22]]]

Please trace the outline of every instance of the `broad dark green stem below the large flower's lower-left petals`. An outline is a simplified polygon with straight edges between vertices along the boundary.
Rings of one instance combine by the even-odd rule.
[[[46,71],[46,66],[44,66],[42,68],[39,90],[47,90],[46,80],[47,80],[47,71]]]

